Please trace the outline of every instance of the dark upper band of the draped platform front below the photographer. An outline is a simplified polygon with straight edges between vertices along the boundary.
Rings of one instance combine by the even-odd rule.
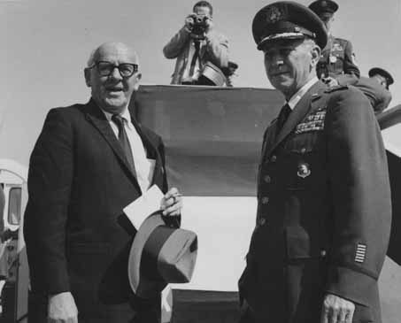
[[[186,196],[255,196],[262,137],[281,104],[272,90],[156,88],[138,98],[136,112],[165,142],[170,187]]]

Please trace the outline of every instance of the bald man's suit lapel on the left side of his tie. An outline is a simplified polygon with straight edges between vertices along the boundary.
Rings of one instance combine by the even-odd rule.
[[[121,164],[129,173],[131,181],[135,183],[135,186],[141,191],[138,181],[136,180],[135,174],[132,173],[131,167],[128,165],[127,158],[124,150],[122,150],[120,142],[118,141],[116,135],[112,132],[112,127],[110,127],[109,121],[104,116],[104,113],[97,107],[93,99],[90,99],[89,104],[87,104],[88,109],[86,110],[86,117],[90,123],[104,136],[104,140],[110,145],[116,157],[120,160]]]

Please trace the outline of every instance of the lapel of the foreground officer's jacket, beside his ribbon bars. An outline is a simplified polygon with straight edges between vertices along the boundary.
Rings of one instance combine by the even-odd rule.
[[[311,109],[311,97],[318,96],[320,91],[326,88],[327,87],[323,83],[318,81],[316,84],[312,85],[312,88],[308,89],[301,100],[299,100],[294,110],[289,114],[289,119],[287,119],[280,133],[275,137],[274,143],[267,148],[266,156],[270,155],[270,153],[291,133],[294,127],[305,118],[306,113]]]

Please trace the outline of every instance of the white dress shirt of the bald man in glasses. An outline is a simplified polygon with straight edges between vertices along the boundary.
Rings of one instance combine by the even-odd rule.
[[[112,121],[112,113],[104,112],[104,116],[109,121],[110,127],[117,139],[119,138],[119,127]],[[146,192],[150,187],[151,180],[153,178],[153,172],[155,169],[155,159],[146,158],[146,149],[143,146],[141,136],[138,135],[136,129],[131,121],[131,115],[127,107],[120,113],[121,118],[124,122],[124,128],[127,132],[128,142],[131,145],[132,155],[134,158],[136,180],[142,190]]]

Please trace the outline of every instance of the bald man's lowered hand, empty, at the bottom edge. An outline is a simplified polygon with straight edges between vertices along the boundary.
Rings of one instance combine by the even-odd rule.
[[[78,323],[78,309],[70,292],[49,296],[49,323]]]

